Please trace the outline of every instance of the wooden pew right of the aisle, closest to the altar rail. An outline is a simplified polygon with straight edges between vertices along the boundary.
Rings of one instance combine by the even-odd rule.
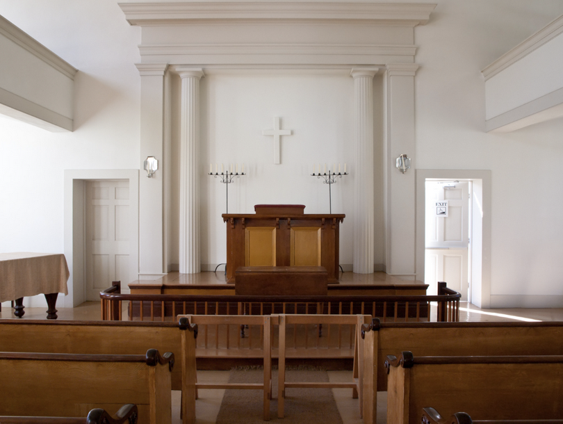
[[[377,391],[387,390],[386,355],[563,354],[563,323],[382,323],[373,318],[364,337],[364,423],[377,418]],[[428,406],[428,405],[425,405]]]

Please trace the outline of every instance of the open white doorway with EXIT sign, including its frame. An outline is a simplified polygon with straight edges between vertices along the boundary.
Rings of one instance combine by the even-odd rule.
[[[416,279],[429,284],[429,295],[444,281],[463,300],[489,307],[491,171],[416,170]]]

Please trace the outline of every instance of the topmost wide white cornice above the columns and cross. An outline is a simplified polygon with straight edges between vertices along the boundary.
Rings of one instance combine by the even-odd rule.
[[[154,26],[190,22],[239,20],[369,21],[378,24],[424,25],[436,4],[309,3],[309,2],[184,2],[119,3],[131,25]]]

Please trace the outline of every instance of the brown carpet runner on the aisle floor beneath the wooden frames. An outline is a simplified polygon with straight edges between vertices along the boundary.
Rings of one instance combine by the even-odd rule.
[[[259,383],[263,370],[231,370],[231,383]],[[285,418],[277,418],[277,370],[272,373],[273,399],[270,422],[284,424],[342,424],[332,389],[286,389]],[[325,370],[311,368],[286,371],[287,381],[328,382]],[[263,424],[263,394],[259,390],[226,390],[217,424]]]

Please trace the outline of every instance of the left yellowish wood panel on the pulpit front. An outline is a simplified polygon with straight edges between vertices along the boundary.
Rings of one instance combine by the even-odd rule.
[[[276,265],[276,229],[250,227],[245,229],[245,266]]]

